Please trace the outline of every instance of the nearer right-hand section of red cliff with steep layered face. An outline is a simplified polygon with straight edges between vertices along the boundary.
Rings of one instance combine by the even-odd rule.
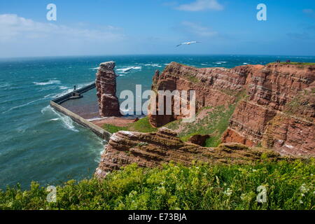
[[[314,156],[314,79],[315,66],[268,64],[253,73],[223,141]]]

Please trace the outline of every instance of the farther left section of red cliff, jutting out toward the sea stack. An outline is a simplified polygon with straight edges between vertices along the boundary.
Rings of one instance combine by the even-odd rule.
[[[161,74],[155,73],[152,90],[195,90],[197,111],[204,106],[228,106],[235,102],[237,93],[244,90],[248,73],[260,67],[262,66],[197,69],[172,62]],[[156,102],[158,104],[158,96]],[[152,115],[150,111],[148,113],[150,123],[155,127],[183,118],[176,115]]]

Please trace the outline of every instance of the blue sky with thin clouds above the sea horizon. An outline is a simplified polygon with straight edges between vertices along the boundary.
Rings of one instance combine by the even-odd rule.
[[[0,57],[130,54],[315,55],[315,1],[0,0]]]

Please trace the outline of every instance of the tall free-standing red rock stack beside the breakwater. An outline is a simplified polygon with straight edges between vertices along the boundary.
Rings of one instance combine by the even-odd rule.
[[[99,115],[102,117],[120,116],[118,98],[116,97],[115,62],[99,64],[96,74]]]

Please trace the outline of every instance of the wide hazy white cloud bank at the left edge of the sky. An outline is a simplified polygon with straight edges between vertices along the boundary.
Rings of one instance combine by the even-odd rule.
[[[123,38],[117,29],[104,26],[103,29],[85,29],[55,25],[50,22],[35,22],[15,14],[0,15],[0,42],[17,41],[19,38],[80,38],[82,40],[118,41]]]

